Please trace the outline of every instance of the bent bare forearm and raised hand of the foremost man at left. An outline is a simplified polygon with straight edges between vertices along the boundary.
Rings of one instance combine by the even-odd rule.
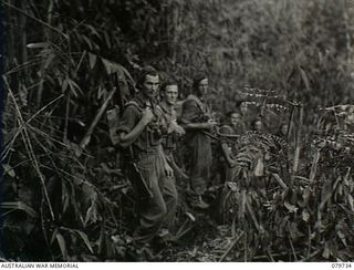
[[[118,133],[119,145],[122,147],[127,147],[132,145],[135,142],[135,139],[137,139],[140,136],[145,127],[152,122],[153,118],[154,118],[153,111],[148,107],[145,108],[143,111],[143,117],[137,123],[137,125],[133,127],[133,129],[131,129],[129,132],[121,131]]]

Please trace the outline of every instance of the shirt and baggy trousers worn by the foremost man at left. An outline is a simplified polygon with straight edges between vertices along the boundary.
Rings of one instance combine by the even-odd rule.
[[[140,95],[128,102],[117,132],[129,133],[139,123],[145,106]],[[164,120],[154,104],[153,112],[155,120],[132,144],[136,166],[153,195],[153,197],[140,198],[139,201],[139,225],[134,235],[136,240],[143,242],[153,240],[164,224],[167,222],[169,226],[173,222],[177,206],[175,183],[165,174],[162,134],[158,128],[153,127],[153,125],[163,126]],[[139,190],[139,187],[137,189]]]

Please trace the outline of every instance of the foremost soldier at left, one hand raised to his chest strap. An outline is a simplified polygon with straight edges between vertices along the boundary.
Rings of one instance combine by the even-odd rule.
[[[136,183],[140,198],[139,225],[134,237],[138,242],[152,242],[164,224],[173,222],[177,193],[171,180],[173,169],[162,148],[164,121],[155,102],[158,73],[153,68],[144,69],[137,87],[139,92],[126,104],[117,132],[121,146],[132,148],[134,165],[142,176]],[[149,196],[143,197],[142,190]]]

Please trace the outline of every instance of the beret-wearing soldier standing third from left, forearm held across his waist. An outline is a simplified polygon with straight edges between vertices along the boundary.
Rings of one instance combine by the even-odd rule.
[[[190,149],[190,205],[196,208],[209,207],[202,195],[207,189],[211,167],[211,143],[207,135],[216,123],[210,118],[210,108],[205,101],[208,92],[208,77],[197,76],[192,84],[194,94],[190,94],[181,112],[181,125],[186,129],[186,144]]]

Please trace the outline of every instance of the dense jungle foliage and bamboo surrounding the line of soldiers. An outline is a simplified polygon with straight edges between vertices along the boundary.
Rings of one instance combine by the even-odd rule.
[[[327,108],[354,98],[352,1],[8,0],[1,10],[3,258],[352,260],[353,111]],[[145,64],[171,74],[181,98],[204,71],[215,111],[247,100],[269,133],[290,124],[287,147],[258,139],[284,155],[266,164],[267,185],[248,185],[249,172],[241,195],[210,187],[237,218],[192,212],[179,183],[178,242],[159,257],[132,242],[135,200],[106,114]]]

